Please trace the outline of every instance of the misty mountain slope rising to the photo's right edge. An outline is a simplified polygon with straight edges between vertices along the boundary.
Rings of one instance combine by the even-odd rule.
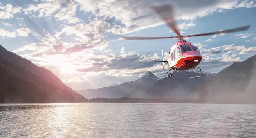
[[[256,55],[220,71],[198,87],[188,100],[256,104]]]

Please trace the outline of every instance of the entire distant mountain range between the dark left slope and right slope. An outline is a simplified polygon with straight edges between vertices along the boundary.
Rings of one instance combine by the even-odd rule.
[[[117,86],[99,89],[80,90],[78,93],[90,98],[176,98],[188,97],[199,85],[214,76],[214,73],[204,73],[204,77],[189,78],[185,71],[173,73],[173,76],[159,79],[151,71],[143,77]],[[191,72],[191,76],[199,73]]]

